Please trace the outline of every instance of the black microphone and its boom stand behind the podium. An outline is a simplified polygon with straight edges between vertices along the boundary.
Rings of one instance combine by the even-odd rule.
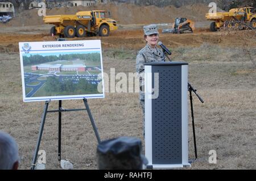
[[[171,62],[171,58],[168,57],[168,54],[166,50],[163,49],[163,53],[167,57],[167,59]],[[189,99],[190,99],[190,105],[191,105],[191,117],[192,117],[192,129],[193,129],[193,140],[194,140],[194,148],[195,148],[195,157],[197,159],[197,149],[196,149],[196,132],[195,132],[195,120],[194,120],[194,112],[193,112],[193,98],[192,98],[192,91],[196,94],[197,98],[201,101],[201,103],[204,103],[204,100],[200,97],[200,95],[197,94],[196,89],[194,89],[191,84],[188,82],[188,91],[189,91]]]

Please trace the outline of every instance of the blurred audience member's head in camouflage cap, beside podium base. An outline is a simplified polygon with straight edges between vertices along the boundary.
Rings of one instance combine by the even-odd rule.
[[[142,155],[142,142],[135,137],[118,137],[102,141],[97,147],[98,169],[143,169],[147,159]]]

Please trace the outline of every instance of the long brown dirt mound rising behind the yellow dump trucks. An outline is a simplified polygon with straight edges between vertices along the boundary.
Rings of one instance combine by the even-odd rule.
[[[195,21],[205,20],[205,13],[209,7],[204,4],[188,5],[176,8],[167,6],[138,6],[129,3],[108,3],[97,6],[63,7],[47,10],[47,15],[75,14],[77,11],[106,10],[111,12],[111,18],[118,24],[149,24],[149,23],[172,23],[176,17],[185,17]],[[43,16],[38,15],[38,9],[26,10],[17,15],[7,24],[0,26],[35,26],[43,24]]]

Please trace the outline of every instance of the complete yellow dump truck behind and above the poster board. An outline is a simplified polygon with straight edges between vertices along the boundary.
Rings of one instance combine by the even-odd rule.
[[[54,24],[51,35],[60,37],[109,36],[117,30],[117,22],[106,18],[107,12],[101,10],[79,11],[75,15],[44,16],[44,23]]]

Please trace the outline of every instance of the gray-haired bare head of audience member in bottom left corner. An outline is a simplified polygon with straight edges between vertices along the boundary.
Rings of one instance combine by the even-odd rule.
[[[0,131],[0,170],[18,169],[19,149],[13,137]]]

